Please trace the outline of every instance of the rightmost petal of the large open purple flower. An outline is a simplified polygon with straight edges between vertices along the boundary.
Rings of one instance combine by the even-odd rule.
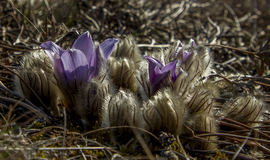
[[[108,60],[109,56],[113,53],[118,41],[118,39],[107,39],[99,45],[103,51],[103,55],[106,60]]]

